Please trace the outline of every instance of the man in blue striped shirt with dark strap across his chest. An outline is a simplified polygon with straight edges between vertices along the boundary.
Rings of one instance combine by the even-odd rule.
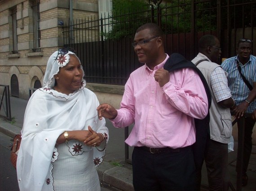
[[[228,85],[237,104],[234,117],[239,119],[245,112],[252,113],[256,109],[256,57],[252,55],[252,40],[247,38],[239,39],[236,51],[238,55],[225,59],[221,66],[228,72]],[[252,152],[252,129],[255,122],[255,119],[245,117],[242,186],[246,186],[248,181],[246,172]]]

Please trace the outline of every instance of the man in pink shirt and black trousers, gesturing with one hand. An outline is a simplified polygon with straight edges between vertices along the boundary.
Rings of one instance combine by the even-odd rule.
[[[134,147],[135,191],[194,189],[194,118],[204,119],[208,112],[207,95],[197,72],[192,68],[163,69],[169,56],[162,35],[154,23],[137,29],[132,46],[145,64],[131,73],[119,110],[106,103],[97,108],[99,119],[108,118],[115,127],[134,123],[125,142]]]

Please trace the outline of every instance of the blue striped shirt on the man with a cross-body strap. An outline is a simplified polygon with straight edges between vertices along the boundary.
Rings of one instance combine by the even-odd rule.
[[[247,81],[253,86],[253,82],[256,82],[256,57],[251,55],[249,61],[246,64],[239,62],[238,56],[225,59],[221,64],[222,68],[228,72],[228,85],[231,90],[232,98],[235,102],[240,104],[247,99],[250,89],[244,83],[242,76],[237,68],[237,61],[241,66],[241,72],[246,77]],[[253,101],[248,107],[247,111],[251,113],[256,109],[256,102]]]

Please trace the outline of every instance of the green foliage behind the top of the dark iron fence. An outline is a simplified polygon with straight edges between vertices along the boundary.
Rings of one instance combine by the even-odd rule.
[[[159,10],[154,5],[154,12],[148,0],[113,0],[110,31],[102,32],[106,39],[133,38],[137,28],[161,12],[161,27],[164,33],[191,32],[191,0],[167,1],[161,3]],[[197,31],[216,30],[216,0],[199,1],[194,4],[194,22]],[[151,15],[151,14],[154,15]]]

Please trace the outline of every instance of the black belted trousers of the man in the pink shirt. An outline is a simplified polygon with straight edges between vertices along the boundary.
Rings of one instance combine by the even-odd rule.
[[[135,191],[191,191],[195,187],[192,147],[179,152],[152,154],[140,147],[132,153]]]

